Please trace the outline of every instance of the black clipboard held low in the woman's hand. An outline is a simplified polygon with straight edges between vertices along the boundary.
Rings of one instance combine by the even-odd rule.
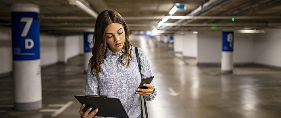
[[[95,116],[129,118],[119,98],[108,98],[107,96],[74,96],[80,104],[98,108]]]

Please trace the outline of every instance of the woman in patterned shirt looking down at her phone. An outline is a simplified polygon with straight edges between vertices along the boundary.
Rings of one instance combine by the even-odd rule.
[[[114,10],[101,12],[94,32],[93,56],[88,64],[86,78],[86,95],[105,95],[118,97],[130,118],[140,116],[141,96],[146,101],[156,96],[153,81],[144,84],[147,89],[139,89],[140,73],[134,47],[129,40],[129,28],[122,16]],[[142,77],[152,76],[147,55],[138,48]],[[98,112],[88,109],[83,112],[85,104],[80,107],[83,118],[92,118]]]

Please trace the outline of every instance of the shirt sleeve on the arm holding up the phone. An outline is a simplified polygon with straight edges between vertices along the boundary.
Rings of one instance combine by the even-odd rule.
[[[139,48],[138,50],[140,52],[140,65],[141,65],[142,77],[143,78],[151,77],[152,76],[152,72],[151,72],[151,67],[150,67],[150,64],[149,64],[149,60],[147,58],[147,54],[141,48]],[[157,90],[156,90],[156,87],[154,85],[153,80],[151,81],[151,84],[153,85],[155,91],[151,95],[149,95],[149,96],[144,96],[146,101],[153,100],[155,98],[155,96],[157,95]]]

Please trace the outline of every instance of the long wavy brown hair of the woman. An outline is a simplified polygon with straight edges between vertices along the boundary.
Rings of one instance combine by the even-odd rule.
[[[105,38],[105,29],[106,27],[111,23],[119,23],[123,25],[124,32],[125,32],[125,42],[124,42],[124,53],[121,55],[121,63],[123,66],[124,59],[126,59],[127,66],[129,66],[130,61],[132,60],[131,50],[130,46],[132,46],[129,35],[130,31],[128,28],[128,25],[126,24],[124,18],[112,9],[107,9],[101,12],[97,19],[95,24],[95,31],[94,31],[94,47],[92,48],[92,54],[93,56],[90,58],[90,64],[91,64],[91,72],[93,73],[93,70],[96,70],[96,78],[98,79],[98,73],[100,72],[100,65],[103,64],[103,60],[106,58],[106,49],[107,49],[107,42]]]

